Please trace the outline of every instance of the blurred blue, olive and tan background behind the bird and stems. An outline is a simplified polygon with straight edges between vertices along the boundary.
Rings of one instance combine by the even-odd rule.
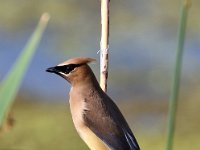
[[[170,85],[181,0],[111,0],[108,94],[119,105],[142,149],[165,148]],[[200,1],[190,9],[175,149],[200,149]],[[100,1],[1,0],[0,81],[19,56],[40,15],[51,20],[21,85],[15,125],[0,137],[5,150],[86,150],[68,105],[69,84],[45,72],[78,56],[99,79]]]

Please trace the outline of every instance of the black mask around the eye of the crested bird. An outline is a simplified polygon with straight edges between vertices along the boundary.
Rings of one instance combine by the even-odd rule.
[[[81,66],[81,64],[69,64],[64,66],[56,66],[55,69],[58,72],[63,72],[65,74],[69,74],[72,70],[74,70],[76,67]]]

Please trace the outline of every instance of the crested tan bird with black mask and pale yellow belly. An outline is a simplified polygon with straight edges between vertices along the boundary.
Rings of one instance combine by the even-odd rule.
[[[91,150],[140,150],[128,123],[114,101],[101,89],[88,65],[76,57],[47,68],[71,84],[69,104],[74,126]]]

